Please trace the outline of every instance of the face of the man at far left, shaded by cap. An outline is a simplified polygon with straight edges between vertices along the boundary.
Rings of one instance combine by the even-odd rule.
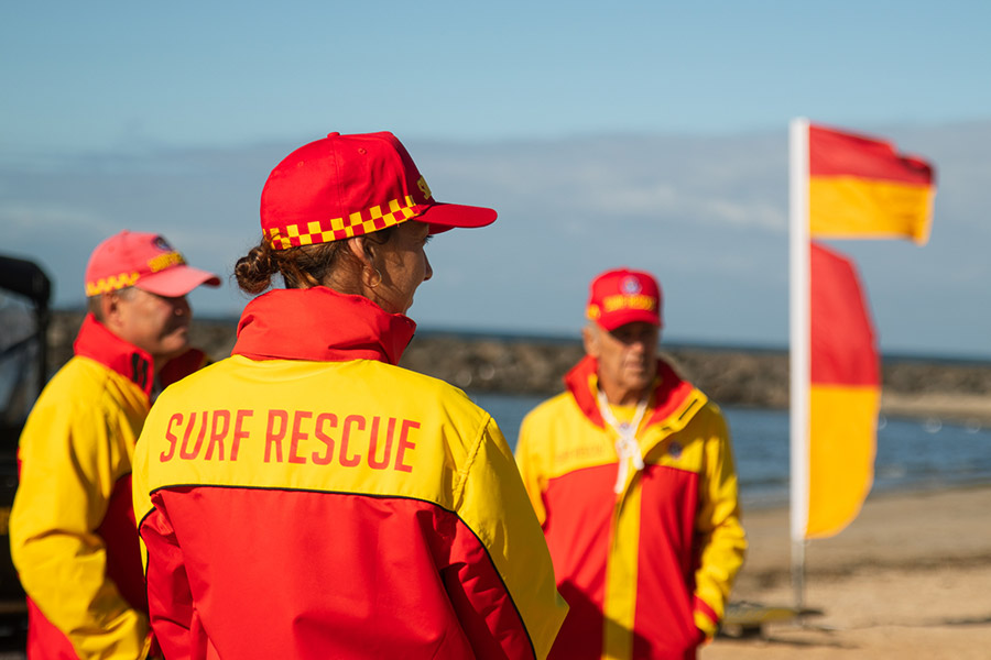
[[[189,345],[193,311],[185,296],[166,298],[131,287],[113,294],[105,308],[107,328],[148,351],[156,366]]]

